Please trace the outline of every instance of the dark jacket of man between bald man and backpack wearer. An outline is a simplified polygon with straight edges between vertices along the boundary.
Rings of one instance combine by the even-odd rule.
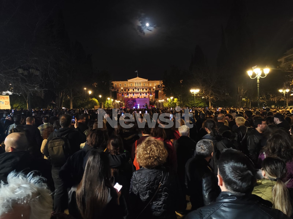
[[[32,125],[24,125],[24,129],[28,130],[28,143],[29,151],[34,157],[43,157],[41,152],[41,145],[43,138],[40,134],[40,130]]]

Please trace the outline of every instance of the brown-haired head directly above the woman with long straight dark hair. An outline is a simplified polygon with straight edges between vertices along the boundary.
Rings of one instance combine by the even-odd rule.
[[[92,129],[88,132],[87,144],[93,148],[103,147],[107,144],[108,133],[107,130]]]

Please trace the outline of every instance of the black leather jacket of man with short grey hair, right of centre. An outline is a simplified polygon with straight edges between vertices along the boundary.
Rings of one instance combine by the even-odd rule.
[[[185,167],[192,210],[216,201],[220,193],[217,176],[205,158],[195,155]]]

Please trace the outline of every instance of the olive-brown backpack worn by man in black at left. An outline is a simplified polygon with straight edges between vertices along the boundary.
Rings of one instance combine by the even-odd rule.
[[[53,135],[53,139],[48,143],[48,152],[52,165],[54,166],[62,166],[66,163],[67,158],[70,156],[70,144],[68,141],[69,133],[56,137],[55,133]]]

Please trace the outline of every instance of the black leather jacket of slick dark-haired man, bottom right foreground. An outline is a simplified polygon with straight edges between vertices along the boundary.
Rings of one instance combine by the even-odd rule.
[[[185,219],[285,219],[280,210],[263,204],[256,195],[239,196],[221,192],[216,202],[189,213]]]

